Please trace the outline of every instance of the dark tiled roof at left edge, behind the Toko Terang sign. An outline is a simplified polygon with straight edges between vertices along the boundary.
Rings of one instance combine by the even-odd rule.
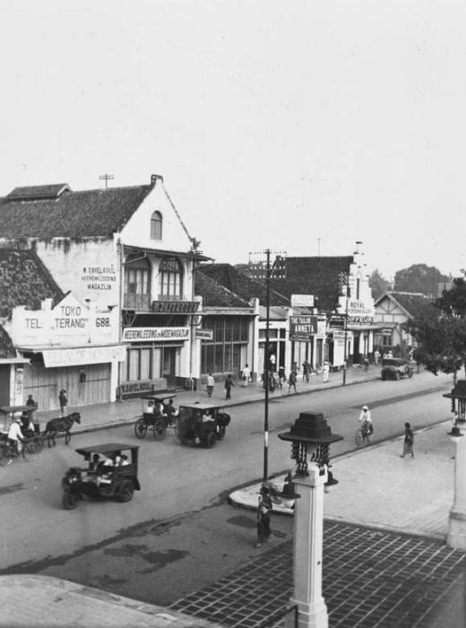
[[[39,310],[40,301],[51,298],[55,304],[63,296],[34,251],[0,249],[0,318],[11,318],[18,305]]]

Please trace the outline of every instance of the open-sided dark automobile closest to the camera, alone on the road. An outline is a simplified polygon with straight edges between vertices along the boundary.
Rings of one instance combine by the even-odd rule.
[[[130,502],[140,491],[138,480],[138,445],[109,442],[76,449],[86,467],[70,467],[62,480],[65,510],[73,510],[84,496],[91,499],[113,497]],[[101,457],[104,457],[102,459]]]

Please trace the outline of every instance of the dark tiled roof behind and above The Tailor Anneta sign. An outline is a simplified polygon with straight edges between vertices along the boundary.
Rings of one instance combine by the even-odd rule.
[[[272,288],[288,298],[291,294],[314,294],[319,310],[333,310],[340,294],[341,273],[348,273],[352,256],[287,257],[286,277],[273,279]]]

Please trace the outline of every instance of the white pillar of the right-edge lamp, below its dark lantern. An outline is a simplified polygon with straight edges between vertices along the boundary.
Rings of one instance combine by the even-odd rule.
[[[454,498],[448,517],[446,544],[466,551],[466,433],[456,441],[454,458]]]

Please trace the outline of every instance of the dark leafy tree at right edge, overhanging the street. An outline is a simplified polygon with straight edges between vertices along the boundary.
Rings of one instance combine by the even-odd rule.
[[[404,328],[416,339],[417,362],[437,374],[466,369],[466,283],[454,279],[422,316],[412,318]]]

